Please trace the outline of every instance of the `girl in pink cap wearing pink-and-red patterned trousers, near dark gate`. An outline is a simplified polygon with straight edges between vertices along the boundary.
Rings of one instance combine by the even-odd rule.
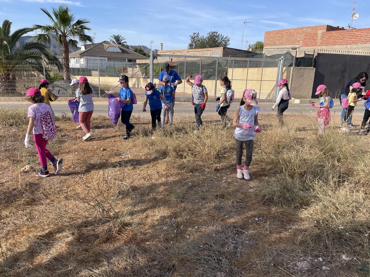
[[[316,113],[316,121],[319,123],[319,134],[324,132],[326,126],[330,123],[330,92],[325,85],[319,85],[316,89],[316,95],[320,97],[320,103],[311,104],[314,108],[319,108]]]

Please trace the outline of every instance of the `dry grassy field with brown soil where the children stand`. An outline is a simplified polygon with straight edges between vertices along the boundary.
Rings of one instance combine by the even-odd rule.
[[[260,114],[250,181],[236,179],[233,127],[175,114],[152,131],[92,119],[82,141],[58,118],[49,178],[24,148],[25,110],[0,110],[1,276],[369,276],[370,136],[312,114]],[[359,124],[359,118],[354,120]],[[34,145],[33,140],[31,143]],[[49,166],[50,173],[54,173]]]

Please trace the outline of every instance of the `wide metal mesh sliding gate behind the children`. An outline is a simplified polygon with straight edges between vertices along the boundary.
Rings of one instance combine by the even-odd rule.
[[[274,100],[279,92],[276,83],[282,78],[284,59],[169,55],[151,51],[150,81],[157,87],[164,62],[168,62],[170,69],[176,71],[183,81],[176,89],[178,100],[191,99],[191,86],[185,83],[189,74],[193,78],[198,74],[203,76],[202,84],[206,86],[211,99],[219,96],[219,78],[226,75],[231,80],[236,99],[242,98],[246,89],[254,89],[258,99]]]

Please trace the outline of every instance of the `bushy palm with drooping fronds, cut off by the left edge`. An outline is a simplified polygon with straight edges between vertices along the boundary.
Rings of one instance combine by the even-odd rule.
[[[22,35],[33,28],[21,28],[10,34],[11,22],[4,20],[0,27],[0,95],[14,93],[16,90],[16,75],[22,70],[34,69],[43,72],[43,55],[48,64],[60,66],[60,62],[46,45],[28,41],[19,45]]]

